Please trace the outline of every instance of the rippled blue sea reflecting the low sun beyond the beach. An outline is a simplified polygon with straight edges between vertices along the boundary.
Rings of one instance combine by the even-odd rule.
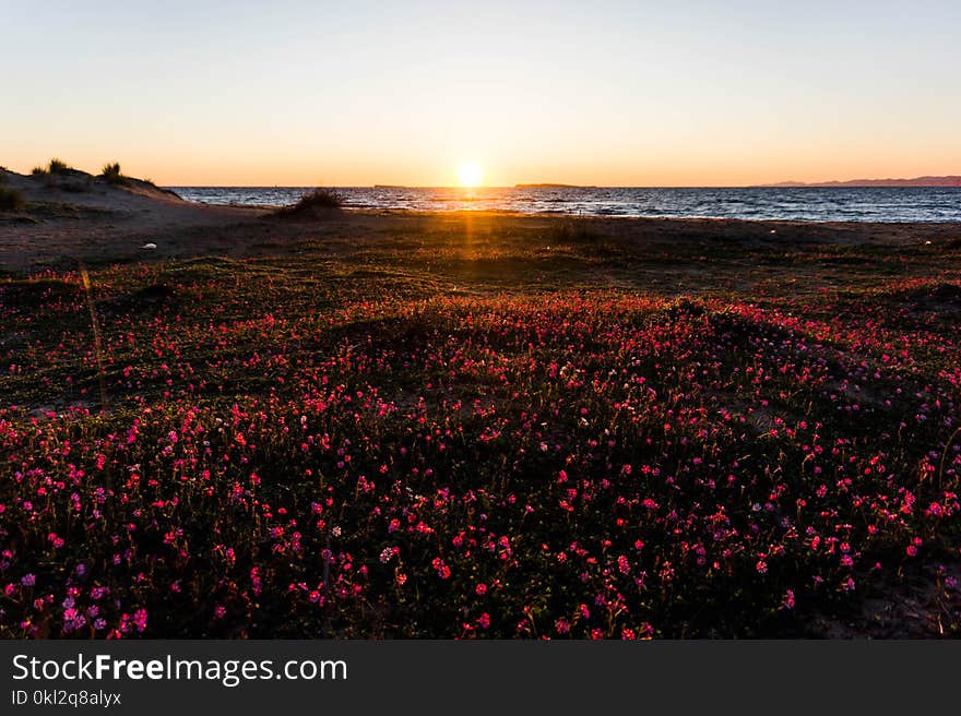
[[[286,205],[307,187],[170,187],[210,204]],[[805,222],[961,222],[961,187],[339,188],[347,206]]]

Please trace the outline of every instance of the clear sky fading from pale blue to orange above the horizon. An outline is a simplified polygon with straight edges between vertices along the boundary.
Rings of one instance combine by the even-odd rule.
[[[961,1],[0,0],[0,164],[162,184],[961,174]]]

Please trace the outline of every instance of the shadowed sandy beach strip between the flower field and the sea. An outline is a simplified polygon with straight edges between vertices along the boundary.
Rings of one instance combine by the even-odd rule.
[[[324,244],[384,246],[394,239],[497,235],[534,239],[543,247],[589,237],[593,242],[639,246],[724,247],[772,251],[799,246],[944,246],[961,240],[961,224],[868,224],[562,217],[506,213],[419,213],[342,210],[278,218],[262,207],[187,202],[139,180],[112,186],[70,170],[35,177],[2,172],[2,184],[28,204],[0,212],[0,273],[63,268],[199,255],[232,258],[301,252]],[[143,249],[156,244],[156,249]]]

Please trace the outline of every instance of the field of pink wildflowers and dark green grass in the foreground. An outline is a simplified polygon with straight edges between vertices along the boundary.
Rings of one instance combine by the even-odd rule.
[[[0,634],[793,636],[918,578],[961,628],[957,250],[458,251],[103,265],[98,342],[76,271],[0,283]]]

